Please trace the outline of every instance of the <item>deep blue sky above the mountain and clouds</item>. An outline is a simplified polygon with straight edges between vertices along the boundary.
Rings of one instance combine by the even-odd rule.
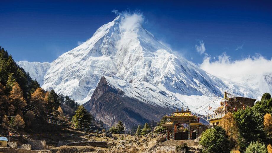
[[[114,19],[113,9],[140,11],[143,26],[194,63],[206,53],[233,60],[260,53],[272,57],[269,1],[0,1],[0,45],[16,61],[51,62]],[[237,46],[243,47],[235,50]]]

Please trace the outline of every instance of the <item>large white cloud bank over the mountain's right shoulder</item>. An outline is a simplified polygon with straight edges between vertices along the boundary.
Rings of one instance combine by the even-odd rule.
[[[215,60],[205,56],[200,68],[206,72],[233,81],[241,82],[253,80],[255,77],[272,72],[272,58],[266,59],[261,55],[232,61],[230,56],[223,53]]]

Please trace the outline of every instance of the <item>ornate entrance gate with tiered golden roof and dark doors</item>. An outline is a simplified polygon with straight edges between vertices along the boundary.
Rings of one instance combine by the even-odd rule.
[[[206,126],[199,122],[199,118],[187,111],[175,111],[166,115],[168,121],[163,124],[166,128],[166,140],[187,140],[196,139],[206,129]]]

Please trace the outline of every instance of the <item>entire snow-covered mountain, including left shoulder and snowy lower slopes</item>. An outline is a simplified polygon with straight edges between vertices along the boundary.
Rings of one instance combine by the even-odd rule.
[[[119,15],[98,28],[85,43],[59,56],[50,66],[48,63],[41,65],[46,67],[44,70],[48,69],[45,74],[38,66],[31,69],[30,65],[18,64],[33,79],[39,80],[44,89],[54,89],[82,103],[91,99],[103,76],[126,97],[153,106],[167,105],[171,109],[183,105],[192,110],[202,105],[216,106],[216,102],[208,102],[222,96],[224,90],[235,95],[255,96],[252,94],[255,90],[249,86],[231,79],[222,81],[177,55],[145,30],[142,21],[138,14]],[[264,78],[263,84],[271,84],[269,78],[271,76]],[[156,98],[153,90],[166,95]],[[196,113],[206,114],[207,110],[199,108]]]

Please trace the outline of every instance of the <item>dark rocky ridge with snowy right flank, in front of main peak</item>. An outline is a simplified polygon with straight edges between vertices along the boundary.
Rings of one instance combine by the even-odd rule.
[[[149,83],[129,83],[116,76],[105,76],[100,79],[85,108],[107,125],[121,120],[126,127],[132,127],[159,121],[175,107],[184,106],[171,96]]]

